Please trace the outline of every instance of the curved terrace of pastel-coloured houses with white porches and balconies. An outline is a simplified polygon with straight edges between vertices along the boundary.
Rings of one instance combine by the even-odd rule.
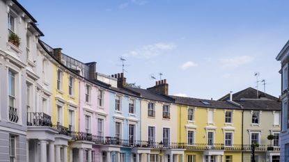
[[[218,101],[171,96],[166,79],[136,87],[42,42],[17,1],[0,0],[0,13],[0,161],[251,161],[251,144],[256,161],[279,161],[278,98],[253,88]]]

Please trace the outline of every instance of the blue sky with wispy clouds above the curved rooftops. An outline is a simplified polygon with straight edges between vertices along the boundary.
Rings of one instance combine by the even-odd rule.
[[[19,0],[38,20],[42,38],[97,72],[121,72],[127,81],[154,86],[159,72],[170,95],[219,99],[256,87],[280,94],[280,63],[289,39],[289,1],[39,1]],[[263,85],[259,84],[261,90]]]

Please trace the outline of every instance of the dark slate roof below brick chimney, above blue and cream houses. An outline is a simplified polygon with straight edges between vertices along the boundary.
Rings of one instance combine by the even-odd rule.
[[[172,99],[171,97],[168,97],[166,95],[160,95],[150,90],[146,90],[142,88],[132,88],[132,87],[125,87],[125,88],[127,88],[127,90],[138,92],[141,95],[141,97],[144,99],[149,99],[149,100],[158,101],[158,102],[170,102],[170,103],[174,102],[174,99]]]

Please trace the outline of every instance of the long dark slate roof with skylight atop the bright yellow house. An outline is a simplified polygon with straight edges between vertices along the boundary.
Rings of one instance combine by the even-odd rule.
[[[240,106],[236,106],[226,101],[216,101],[210,99],[196,99],[190,97],[170,96],[175,99],[176,104],[184,104],[187,106],[205,107],[205,108],[224,108],[224,109],[240,109]],[[208,103],[208,104],[207,104]]]

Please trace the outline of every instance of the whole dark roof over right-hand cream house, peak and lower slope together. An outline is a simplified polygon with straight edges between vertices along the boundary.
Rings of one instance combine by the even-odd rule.
[[[246,88],[233,94],[233,102],[240,104],[245,110],[264,110],[264,111],[281,111],[281,102],[279,98],[269,95],[265,92],[258,91],[255,88]],[[230,99],[230,94],[221,97],[219,101],[227,101]]]

